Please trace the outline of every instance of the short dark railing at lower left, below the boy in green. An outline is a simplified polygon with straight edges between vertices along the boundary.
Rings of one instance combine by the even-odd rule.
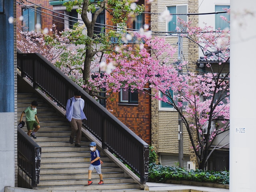
[[[24,177],[31,180],[31,184],[28,182],[31,188],[39,184],[40,165],[41,147],[18,126],[18,167],[25,173]],[[23,174],[21,176],[24,179]]]

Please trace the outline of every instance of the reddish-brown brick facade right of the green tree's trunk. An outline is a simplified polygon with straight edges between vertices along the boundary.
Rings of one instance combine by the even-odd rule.
[[[137,4],[144,4],[146,13],[150,12],[150,4],[144,0],[139,0]],[[106,14],[106,24],[112,26],[112,16]],[[136,19],[136,18],[135,18]],[[143,24],[150,26],[150,14],[143,14]],[[135,29],[134,19],[129,18],[126,22],[127,32]],[[138,29],[137,29],[138,30]],[[149,29],[150,30],[150,29]],[[136,46],[135,43],[128,43],[128,46]],[[146,92],[150,92],[149,85],[145,87]],[[106,101],[106,108],[122,121],[128,128],[135,132],[148,144],[151,144],[151,96],[138,92],[137,104],[126,104],[120,102],[120,93],[111,94]]]

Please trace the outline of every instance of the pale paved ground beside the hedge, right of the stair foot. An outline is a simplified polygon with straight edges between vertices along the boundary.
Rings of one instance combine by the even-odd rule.
[[[222,188],[211,188],[211,187],[198,187],[189,185],[179,185],[179,184],[167,184],[167,183],[146,183],[149,186],[150,191],[172,191],[172,190],[198,190],[201,192],[229,192],[229,189]]]

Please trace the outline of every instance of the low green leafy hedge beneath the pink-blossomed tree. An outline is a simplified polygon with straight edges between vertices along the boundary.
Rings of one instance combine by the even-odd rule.
[[[229,184],[229,172],[199,169],[188,171],[183,168],[167,167],[156,163],[149,164],[149,182],[165,182],[168,179]]]

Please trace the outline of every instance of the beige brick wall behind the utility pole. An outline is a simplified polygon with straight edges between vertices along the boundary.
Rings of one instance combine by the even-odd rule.
[[[166,10],[166,6],[176,4],[187,4],[188,13],[198,12],[198,0],[155,0],[151,4],[151,11],[153,13],[162,13]],[[159,15],[151,16],[151,29],[152,31],[166,32],[166,22],[160,21]],[[198,26],[198,16],[188,16],[188,20],[192,20],[192,24]],[[154,37],[153,37],[154,38]],[[166,36],[166,41],[170,44],[178,42],[177,36]],[[178,46],[176,46],[178,48]],[[196,72],[196,61],[198,59],[198,46],[183,38],[183,60],[188,61],[188,67],[190,70]],[[178,58],[178,52],[174,55],[174,58]],[[170,153],[178,154],[178,112],[176,111],[159,111],[158,100],[152,99],[152,146],[157,153]],[[191,149],[191,142],[188,136],[186,127],[183,126],[183,148],[184,155],[190,155],[190,161],[195,161],[196,156]],[[196,132],[194,132],[196,133]]]

